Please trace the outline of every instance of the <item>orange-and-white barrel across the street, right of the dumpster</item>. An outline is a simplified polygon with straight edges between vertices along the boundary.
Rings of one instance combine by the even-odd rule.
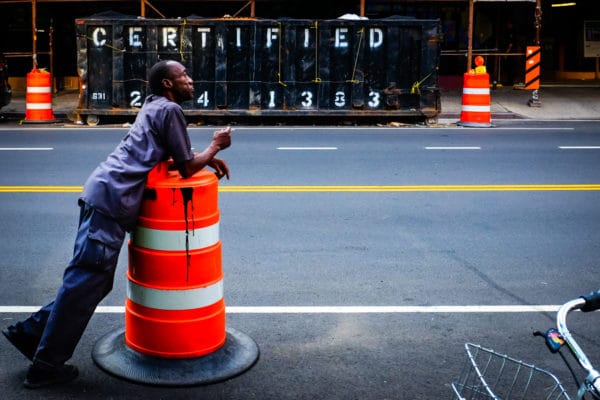
[[[492,126],[489,74],[476,72],[464,74],[462,105],[458,125],[468,127]]]

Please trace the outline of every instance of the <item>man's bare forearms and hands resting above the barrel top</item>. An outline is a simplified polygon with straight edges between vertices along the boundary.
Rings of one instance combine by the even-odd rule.
[[[229,179],[229,169],[225,161],[215,158],[215,155],[231,145],[231,128],[227,127],[216,131],[213,134],[213,139],[202,153],[194,154],[194,158],[189,161],[179,163],[177,170],[182,177],[188,178],[200,171],[206,166],[215,169],[217,176],[222,178],[227,176]]]

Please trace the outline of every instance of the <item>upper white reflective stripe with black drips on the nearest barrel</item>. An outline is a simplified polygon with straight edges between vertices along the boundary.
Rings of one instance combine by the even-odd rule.
[[[185,239],[188,239],[186,246]],[[219,223],[185,231],[167,231],[161,229],[136,227],[131,232],[131,242],[136,246],[164,251],[191,251],[204,249],[219,242]]]

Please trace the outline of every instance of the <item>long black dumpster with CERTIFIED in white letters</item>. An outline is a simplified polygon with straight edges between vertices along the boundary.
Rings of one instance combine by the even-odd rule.
[[[192,117],[385,116],[441,111],[439,20],[76,20],[82,90],[76,112],[135,114],[161,59],[186,66]]]

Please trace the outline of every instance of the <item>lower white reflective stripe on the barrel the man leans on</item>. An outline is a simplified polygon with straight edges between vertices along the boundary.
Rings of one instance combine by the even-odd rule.
[[[215,304],[223,298],[223,280],[193,289],[154,289],[128,280],[127,298],[156,310],[193,310]]]

